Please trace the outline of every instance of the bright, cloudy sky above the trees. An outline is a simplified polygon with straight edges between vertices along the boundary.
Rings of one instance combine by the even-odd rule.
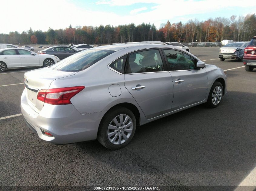
[[[72,25],[154,23],[157,28],[197,18],[247,15],[256,13],[256,1],[241,0],[15,0],[1,1],[0,33],[32,30],[46,31]]]

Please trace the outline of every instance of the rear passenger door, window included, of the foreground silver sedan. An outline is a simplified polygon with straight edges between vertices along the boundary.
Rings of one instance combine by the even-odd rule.
[[[147,119],[171,111],[173,83],[160,49],[147,49],[128,56],[125,88]]]

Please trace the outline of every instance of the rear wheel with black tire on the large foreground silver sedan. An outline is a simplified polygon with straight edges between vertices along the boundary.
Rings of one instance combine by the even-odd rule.
[[[125,126],[127,126],[126,129]],[[135,130],[136,118],[131,110],[125,107],[115,107],[102,118],[97,140],[104,147],[117,150],[125,147],[131,141]]]

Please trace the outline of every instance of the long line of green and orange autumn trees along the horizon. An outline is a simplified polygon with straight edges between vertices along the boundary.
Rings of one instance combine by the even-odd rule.
[[[76,26],[47,31],[30,28],[22,33],[0,34],[0,43],[10,44],[110,44],[159,40],[162,42],[220,42],[221,40],[249,41],[256,35],[256,16],[232,15],[230,18],[197,19],[171,24],[125,24],[119,26]]]

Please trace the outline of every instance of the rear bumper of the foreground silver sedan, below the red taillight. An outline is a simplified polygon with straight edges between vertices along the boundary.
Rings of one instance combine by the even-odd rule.
[[[89,141],[97,138],[102,112],[80,114],[72,104],[44,104],[40,113],[35,112],[27,103],[25,93],[21,97],[21,112],[28,127],[39,138],[54,144],[67,144]],[[46,136],[43,131],[53,137]]]

